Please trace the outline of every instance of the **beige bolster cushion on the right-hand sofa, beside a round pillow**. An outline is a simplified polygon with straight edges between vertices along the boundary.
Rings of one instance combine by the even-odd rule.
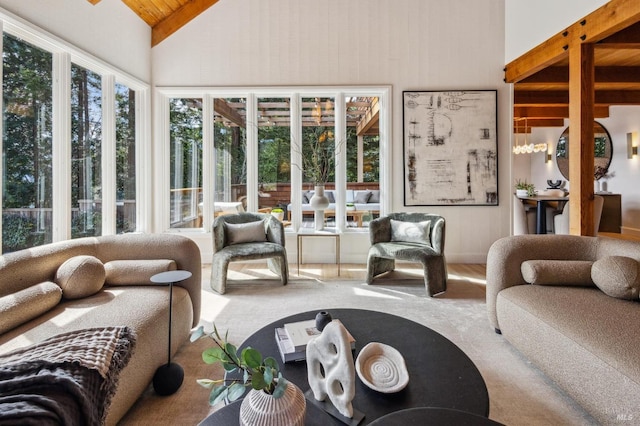
[[[593,286],[592,265],[590,260],[527,260],[520,271],[529,284]]]

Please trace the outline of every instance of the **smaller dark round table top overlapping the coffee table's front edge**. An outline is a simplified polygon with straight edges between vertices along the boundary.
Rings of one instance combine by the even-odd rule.
[[[239,413],[238,413],[239,415]],[[371,426],[500,426],[494,420],[450,408],[418,407],[400,410],[380,417]]]

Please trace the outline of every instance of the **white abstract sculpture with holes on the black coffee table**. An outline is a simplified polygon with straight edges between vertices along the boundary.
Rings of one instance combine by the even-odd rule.
[[[330,322],[307,344],[307,371],[315,399],[324,401],[328,396],[340,414],[353,417],[355,367],[349,335],[340,322]]]

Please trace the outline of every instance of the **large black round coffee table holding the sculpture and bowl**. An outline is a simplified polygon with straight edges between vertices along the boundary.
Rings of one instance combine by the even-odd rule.
[[[482,375],[469,357],[441,334],[414,321],[383,312],[362,309],[318,311],[320,310],[328,310],[333,318],[342,321],[354,336],[354,360],[367,343],[381,342],[400,351],[407,364],[409,384],[395,394],[376,392],[364,385],[356,375],[353,407],[365,414],[361,424],[371,423],[389,413],[414,407],[442,407],[483,417],[489,415],[489,394]],[[274,330],[276,327],[283,327],[285,323],[313,319],[318,311],[292,315],[266,325],[239,347],[251,346],[259,350],[263,356],[270,355],[276,358],[280,363],[282,375],[306,392],[309,390],[306,362],[282,363]],[[227,378],[239,377],[231,374]],[[307,407],[310,405],[312,404],[308,403]],[[229,406],[229,410],[232,406]],[[212,414],[215,415],[216,413]],[[209,418],[203,424],[213,424],[207,420]],[[322,424],[343,423],[326,415]]]

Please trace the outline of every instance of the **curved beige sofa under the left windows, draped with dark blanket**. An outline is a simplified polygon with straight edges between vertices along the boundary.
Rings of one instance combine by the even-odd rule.
[[[9,253],[0,257],[0,298],[9,296],[4,299],[5,312],[6,300],[12,295],[39,283],[55,283],[60,278],[61,265],[86,255],[104,265],[104,286],[87,297],[62,297],[46,312],[5,330],[0,334],[0,354],[67,331],[131,327],[137,335],[135,350],[120,374],[106,417],[107,424],[116,424],[147,389],[155,370],[167,361],[168,287],[151,284],[147,276],[159,270],[158,265],[165,265],[162,270],[184,269],[193,274],[174,286],[171,351],[175,353],[200,319],[200,252],[192,240],[178,235],[127,234],[82,238]],[[137,285],[128,284],[132,280],[138,281]],[[6,329],[7,321],[36,309],[38,304],[49,303],[45,299],[34,300],[9,312],[1,318],[0,325]]]

